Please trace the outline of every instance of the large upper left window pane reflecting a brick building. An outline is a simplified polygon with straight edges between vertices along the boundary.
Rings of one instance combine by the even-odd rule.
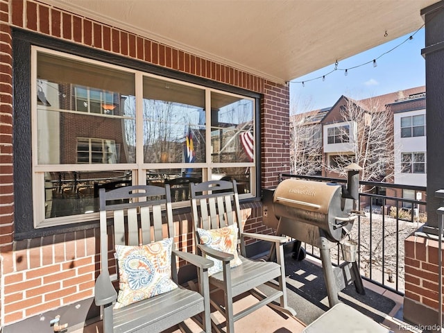
[[[39,164],[135,162],[134,74],[37,53],[36,89]]]

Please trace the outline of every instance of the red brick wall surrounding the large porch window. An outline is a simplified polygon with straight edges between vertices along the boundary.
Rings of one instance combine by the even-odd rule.
[[[263,94],[262,186],[277,185],[278,173],[289,171],[288,87],[130,31],[63,12],[44,1],[0,0],[0,327],[91,298],[99,269],[98,230],[13,241],[12,26]],[[271,232],[262,225],[260,203],[243,207],[248,218],[246,231]],[[191,251],[189,216],[175,219],[180,245]]]

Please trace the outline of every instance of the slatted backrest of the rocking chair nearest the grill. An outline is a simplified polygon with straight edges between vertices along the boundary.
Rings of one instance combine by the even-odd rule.
[[[237,223],[240,234],[242,221],[235,180],[210,180],[190,184],[190,196],[195,230],[216,229]],[[194,236],[197,237],[196,232]]]

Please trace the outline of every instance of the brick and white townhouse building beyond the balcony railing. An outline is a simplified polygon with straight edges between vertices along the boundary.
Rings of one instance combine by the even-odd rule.
[[[345,112],[346,108],[359,112],[355,114],[353,110]],[[372,112],[373,109],[375,111]],[[378,145],[377,142],[373,142],[369,147],[365,142],[361,142],[363,140],[361,136],[368,130],[367,126],[374,112],[388,112],[387,121],[393,121],[393,127],[388,128],[388,132],[380,137],[381,140],[385,140],[384,144]],[[323,160],[322,176],[340,178],[344,176],[335,169],[340,170],[350,162],[360,164],[360,156],[357,157],[357,155],[362,155],[362,152],[359,152],[361,149],[375,152],[373,156],[370,154],[370,157],[367,157],[371,160],[368,165],[374,171],[366,173],[365,180],[425,187],[427,185],[425,113],[424,86],[359,101],[341,96],[332,108],[292,116],[291,123],[297,123],[301,133],[298,135],[296,130],[291,131],[292,139],[302,141],[302,138],[307,135],[307,128],[314,128],[314,126],[322,131],[319,152]],[[389,138],[386,138],[386,135]],[[298,149],[294,144],[291,148],[292,161],[311,162],[312,159],[300,156],[305,151]],[[381,149],[386,151],[381,151]],[[378,163],[377,160],[384,154],[387,158]],[[314,165],[317,167],[317,164]],[[304,174],[297,172],[300,170],[299,166],[292,165],[293,173]],[[416,194],[416,191],[411,189],[396,193],[393,189],[376,187],[372,191],[375,194],[396,195],[408,199],[418,197],[425,199],[424,193]],[[378,200],[374,203],[382,204]],[[402,207],[411,208],[411,204],[402,203]]]

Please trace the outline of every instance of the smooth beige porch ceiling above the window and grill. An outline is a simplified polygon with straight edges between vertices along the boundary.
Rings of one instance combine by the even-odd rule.
[[[420,10],[438,1],[42,2],[284,83],[416,31]]]

